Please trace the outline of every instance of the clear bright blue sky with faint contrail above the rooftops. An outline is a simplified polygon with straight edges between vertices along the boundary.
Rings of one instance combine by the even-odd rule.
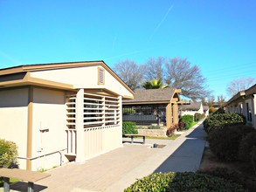
[[[214,95],[256,79],[256,1],[0,0],[0,68],[187,58]]]

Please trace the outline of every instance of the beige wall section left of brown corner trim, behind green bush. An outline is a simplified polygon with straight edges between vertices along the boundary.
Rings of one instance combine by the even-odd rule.
[[[0,90],[0,138],[14,141],[18,146],[18,156],[26,156],[28,88]],[[25,168],[25,160],[18,160],[20,168]]]

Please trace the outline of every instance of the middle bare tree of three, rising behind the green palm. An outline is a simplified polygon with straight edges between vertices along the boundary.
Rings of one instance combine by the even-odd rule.
[[[148,81],[152,79],[163,79],[163,65],[165,62],[165,58],[149,58],[145,63],[145,74],[144,78]]]

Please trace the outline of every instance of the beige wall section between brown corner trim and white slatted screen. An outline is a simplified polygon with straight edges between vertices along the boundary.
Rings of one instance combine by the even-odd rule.
[[[34,88],[32,112],[32,169],[66,162],[65,92]],[[37,158],[40,155],[45,156]]]

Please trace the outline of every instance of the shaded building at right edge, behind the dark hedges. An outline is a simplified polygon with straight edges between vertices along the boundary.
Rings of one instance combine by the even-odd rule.
[[[235,94],[223,107],[226,112],[245,115],[247,125],[256,128],[256,84]]]

